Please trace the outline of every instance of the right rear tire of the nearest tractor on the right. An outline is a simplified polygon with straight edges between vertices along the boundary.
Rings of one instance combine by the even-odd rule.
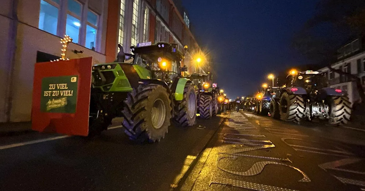
[[[347,124],[351,116],[351,102],[346,96],[328,96],[328,124]]]

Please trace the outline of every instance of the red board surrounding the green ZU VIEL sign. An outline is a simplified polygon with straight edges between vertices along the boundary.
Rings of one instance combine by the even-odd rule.
[[[87,136],[89,131],[91,71],[92,57],[36,63],[32,95],[32,130]],[[78,76],[76,112],[42,112],[42,79],[75,75]]]

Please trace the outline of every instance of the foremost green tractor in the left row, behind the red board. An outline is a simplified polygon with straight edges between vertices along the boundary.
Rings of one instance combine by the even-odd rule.
[[[192,81],[181,77],[187,68],[180,67],[184,54],[177,44],[139,43],[131,47],[133,54],[119,48],[114,63],[92,68],[89,135],[107,130],[115,117],[123,117],[124,132],[138,142],[160,141],[170,119],[192,126],[196,92]]]

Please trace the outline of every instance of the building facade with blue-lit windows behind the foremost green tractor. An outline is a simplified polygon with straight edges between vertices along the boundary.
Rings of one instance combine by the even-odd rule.
[[[187,19],[185,19],[187,20]],[[183,63],[200,50],[172,0],[1,0],[0,122],[31,119],[34,65],[61,56],[60,37],[69,35],[66,57],[114,61],[145,41],[189,46]]]

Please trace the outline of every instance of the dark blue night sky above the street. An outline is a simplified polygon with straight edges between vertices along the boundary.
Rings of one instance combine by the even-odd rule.
[[[213,56],[218,86],[230,98],[253,93],[270,72],[307,59],[291,38],[318,0],[182,0],[202,49]]]

